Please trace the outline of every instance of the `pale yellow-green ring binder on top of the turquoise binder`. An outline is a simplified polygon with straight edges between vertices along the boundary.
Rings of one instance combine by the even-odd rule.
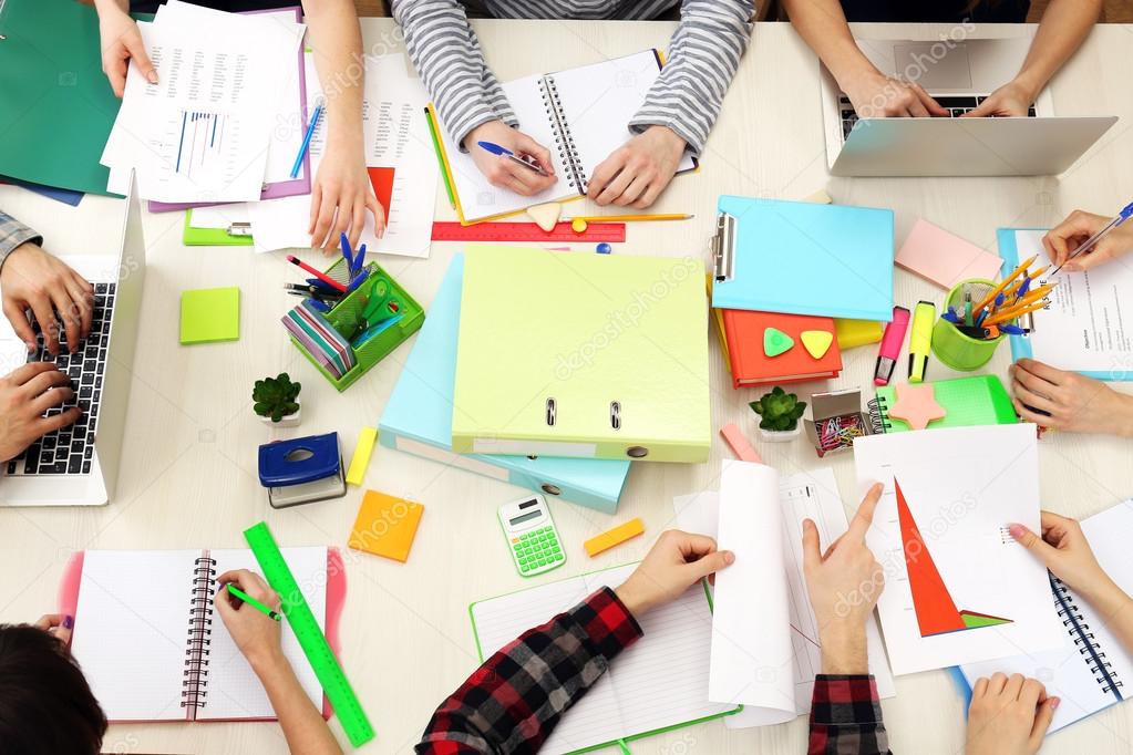
[[[469,246],[453,451],[707,461],[704,275],[693,257]]]

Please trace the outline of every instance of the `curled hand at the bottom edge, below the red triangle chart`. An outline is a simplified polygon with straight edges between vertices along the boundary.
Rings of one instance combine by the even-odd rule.
[[[968,709],[965,755],[1031,755],[1042,745],[1057,697],[1037,679],[996,674],[977,679]]]

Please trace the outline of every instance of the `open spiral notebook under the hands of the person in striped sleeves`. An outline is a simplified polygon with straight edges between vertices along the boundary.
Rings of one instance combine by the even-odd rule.
[[[585,196],[594,169],[633,137],[629,122],[659,72],[661,54],[645,50],[503,84],[519,129],[551,152],[559,178],[550,189],[531,197],[492,186],[448,130],[437,129],[460,222],[468,225],[544,201]],[[479,149],[475,145],[472,148]],[[676,172],[696,166],[696,160],[685,154]]]

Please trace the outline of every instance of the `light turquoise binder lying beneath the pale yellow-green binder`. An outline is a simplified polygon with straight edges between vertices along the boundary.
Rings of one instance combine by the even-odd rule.
[[[616,513],[630,471],[628,461],[452,453],[452,392],[463,272],[465,256],[453,255],[382,414],[381,444],[605,514]]]

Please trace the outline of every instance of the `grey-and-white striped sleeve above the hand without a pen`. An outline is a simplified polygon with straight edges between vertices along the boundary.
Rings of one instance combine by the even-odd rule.
[[[751,38],[752,0],[684,0],[661,76],[630,129],[667,126],[700,154]]]

